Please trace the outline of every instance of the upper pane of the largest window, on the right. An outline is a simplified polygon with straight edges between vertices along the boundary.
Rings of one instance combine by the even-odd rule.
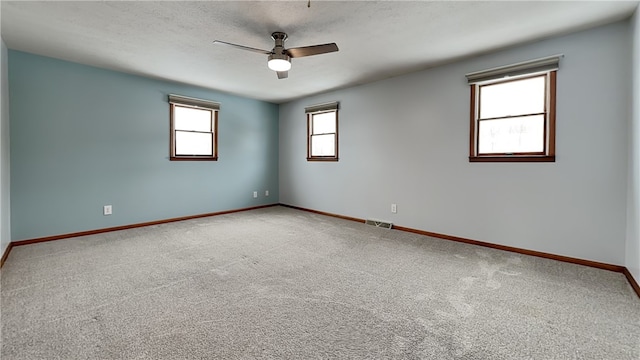
[[[480,87],[480,118],[544,112],[545,76]]]

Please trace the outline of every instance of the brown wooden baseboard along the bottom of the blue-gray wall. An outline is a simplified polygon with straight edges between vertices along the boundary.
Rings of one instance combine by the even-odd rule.
[[[138,223],[138,224],[122,225],[122,226],[115,226],[115,227],[104,228],[104,229],[80,231],[80,232],[69,233],[69,234],[61,234],[61,235],[46,236],[46,237],[35,238],[35,239],[13,241],[9,243],[9,247],[7,248],[7,251],[5,251],[5,255],[2,257],[2,263],[4,264],[4,260],[6,259],[7,256],[9,256],[9,250],[13,246],[22,246],[22,245],[36,244],[36,243],[41,243],[46,241],[68,239],[68,238],[78,237],[78,236],[87,236],[87,235],[101,234],[101,233],[111,232],[111,231],[134,229],[134,228],[139,228],[144,226],[166,224],[166,223],[171,223],[176,221],[184,221],[184,220],[191,220],[191,219],[197,219],[197,218],[203,218],[203,217],[209,217],[209,216],[231,214],[231,213],[242,212],[242,211],[257,210],[257,209],[262,209],[262,208],[267,208],[272,206],[278,206],[278,204],[252,206],[252,207],[242,208],[242,209],[233,209],[233,210],[218,211],[218,212],[207,213],[207,214],[181,216],[177,218],[149,221],[149,222]]]

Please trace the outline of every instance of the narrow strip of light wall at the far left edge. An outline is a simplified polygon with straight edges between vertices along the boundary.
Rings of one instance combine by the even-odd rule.
[[[0,41],[0,256],[11,242],[9,158],[9,61],[7,46]]]

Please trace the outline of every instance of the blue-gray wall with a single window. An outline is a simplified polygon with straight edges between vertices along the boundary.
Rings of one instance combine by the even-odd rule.
[[[278,202],[276,104],[12,50],[9,84],[13,241]],[[217,162],[169,161],[171,93],[221,103]]]

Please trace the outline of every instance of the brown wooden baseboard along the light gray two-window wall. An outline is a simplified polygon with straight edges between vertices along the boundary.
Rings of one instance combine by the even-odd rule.
[[[302,211],[311,212],[311,213],[314,213],[314,214],[327,215],[327,216],[332,216],[332,217],[336,217],[336,218],[339,218],[339,219],[351,220],[351,221],[362,222],[362,223],[365,222],[365,219],[359,219],[359,218],[354,218],[354,217],[350,217],[350,216],[332,214],[332,213],[328,213],[328,212],[324,212],[324,211],[306,209],[306,208],[302,208],[302,207],[299,207],[299,206],[293,206],[293,205],[287,205],[287,204],[280,204],[280,205],[281,206],[285,206],[285,207],[289,207],[289,208],[292,208],[292,209],[296,209],[296,210],[302,210]],[[629,284],[631,284],[631,287],[633,288],[633,290],[636,292],[638,297],[640,297],[640,286],[638,286],[638,283],[633,278],[633,275],[631,275],[631,272],[629,272],[629,269],[627,269],[626,267],[621,266],[621,265],[612,265],[612,264],[602,263],[602,262],[598,262],[598,261],[578,259],[578,258],[574,258],[574,257],[570,257],[570,256],[550,254],[550,253],[545,253],[545,252],[542,252],[542,251],[527,250],[527,249],[521,249],[521,248],[512,247],[512,246],[492,244],[492,243],[489,243],[489,242],[472,240],[472,239],[467,239],[467,238],[462,238],[462,237],[452,236],[452,235],[446,235],[446,234],[439,234],[439,233],[434,233],[434,232],[424,231],[424,230],[418,230],[418,229],[413,229],[413,228],[404,227],[404,226],[393,225],[393,229],[400,230],[400,231],[406,231],[406,232],[419,234],[419,235],[431,236],[431,237],[444,239],[444,240],[462,242],[462,243],[465,243],[465,244],[478,245],[478,246],[493,248],[493,249],[497,249],[497,250],[514,252],[514,253],[523,254],[523,255],[536,256],[536,257],[545,258],[545,259],[557,260],[557,261],[562,261],[562,262],[566,262],[566,263],[572,263],[572,264],[589,266],[589,267],[603,269],[603,270],[619,272],[619,273],[624,274],[624,276],[629,281]]]

